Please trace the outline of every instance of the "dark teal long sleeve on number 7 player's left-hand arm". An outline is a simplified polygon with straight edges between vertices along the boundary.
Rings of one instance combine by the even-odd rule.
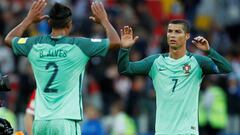
[[[136,62],[129,61],[129,49],[120,49],[118,54],[118,70],[123,75],[148,75],[154,60],[159,55],[151,55]]]

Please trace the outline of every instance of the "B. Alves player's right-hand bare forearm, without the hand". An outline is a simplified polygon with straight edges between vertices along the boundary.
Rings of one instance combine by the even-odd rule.
[[[106,30],[107,37],[110,41],[110,49],[119,48],[120,47],[120,37],[116,30],[113,28],[111,23],[106,20],[102,22],[103,27]]]

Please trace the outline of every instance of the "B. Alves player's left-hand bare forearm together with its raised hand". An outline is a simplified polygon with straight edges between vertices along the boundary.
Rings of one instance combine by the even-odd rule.
[[[4,41],[9,47],[12,47],[13,39],[15,37],[22,37],[24,31],[26,31],[26,29],[32,23],[37,23],[47,18],[46,15],[42,15],[43,9],[46,5],[47,3],[45,2],[45,0],[37,0],[33,2],[27,17],[25,17],[24,20],[20,24],[18,24],[13,30],[11,30],[5,37]]]

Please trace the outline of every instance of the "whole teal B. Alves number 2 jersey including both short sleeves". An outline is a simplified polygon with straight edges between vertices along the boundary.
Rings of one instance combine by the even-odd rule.
[[[82,82],[87,62],[104,56],[108,39],[50,35],[14,38],[14,53],[28,57],[36,79],[35,120],[83,119]]]

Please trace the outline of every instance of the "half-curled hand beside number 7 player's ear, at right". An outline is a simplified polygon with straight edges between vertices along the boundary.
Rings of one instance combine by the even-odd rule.
[[[204,37],[201,36],[195,37],[192,40],[192,43],[202,51],[208,51],[210,49],[209,43]]]

